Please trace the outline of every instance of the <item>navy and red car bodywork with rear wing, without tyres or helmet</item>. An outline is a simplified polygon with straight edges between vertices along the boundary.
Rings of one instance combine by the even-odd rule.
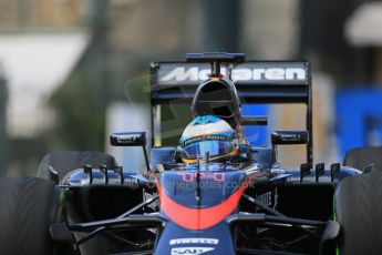
[[[209,110],[216,113],[216,105],[198,109],[198,104],[224,103],[234,115],[225,110],[218,112],[239,129],[246,123],[264,122],[261,118],[241,116],[240,101],[304,103],[307,162],[285,170],[277,163],[272,146],[251,145],[244,163],[221,164],[204,159],[197,164],[185,164],[176,160],[175,147],[154,147],[145,173],[85,166],[60,182],[66,197],[66,221],[52,225],[52,237],[64,239],[58,233],[69,230],[74,234],[71,242],[84,254],[96,253],[92,247],[87,249],[91,252],[81,247],[99,235],[106,237],[107,241],[100,242],[110,246],[111,254],[326,253],[323,244],[339,232],[332,222],[335,185],[360,171],[339,164],[329,169],[312,165],[309,63],[241,62],[241,57],[229,54],[189,59],[190,62],[152,64],[154,119],[162,104],[194,102],[194,114],[198,114],[210,113]],[[224,75],[208,78],[210,68],[206,62],[221,63]],[[208,93],[203,94],[204,90],[214,85],[217,89],[206,91],[228,90],[231,98],[220,94],[224,100],[207,102],[204,96]],[[217,108],[221,110],[221,105]],[[276,133],[275,137],[280,134],[286,133]],[[296,135],[301,133],[289,134],[289,143],[299,142]],[[114,134],[112,139],[115,145],[145,145],[144,133]],[[282,143],[288,141],[279,142]],[[275,140],[273,145],[277,144]],[[51,173],[54,178],[54,170]]]

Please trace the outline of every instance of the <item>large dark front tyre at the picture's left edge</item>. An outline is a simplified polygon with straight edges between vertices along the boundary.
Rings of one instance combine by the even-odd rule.
[[[35,177],[0,178],[0,253],[53,254],[54,183]]]

